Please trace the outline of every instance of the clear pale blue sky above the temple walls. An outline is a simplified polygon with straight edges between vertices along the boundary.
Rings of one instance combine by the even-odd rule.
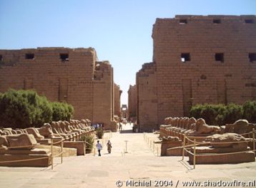
[[[0,0],[0,48],[93,47],[129,84],[152,61],[152,25],[176,14],[256,14],[256,0]]]

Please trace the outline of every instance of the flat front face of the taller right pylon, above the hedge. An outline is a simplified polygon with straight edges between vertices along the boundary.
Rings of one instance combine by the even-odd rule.
[[[179,23],[181,19],[187,23]],[[157,115],[188,115],[197,103],[244,103],[256,97],[256,24],[240,16],[157,19],[153,29],[157,64]]]

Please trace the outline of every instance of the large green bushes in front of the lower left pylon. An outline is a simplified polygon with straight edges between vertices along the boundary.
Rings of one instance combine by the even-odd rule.
[[[41,127],[51,120],[70,120],[72,105],[50,103],[34,90],[8,90],[0,93],[0,127]]]

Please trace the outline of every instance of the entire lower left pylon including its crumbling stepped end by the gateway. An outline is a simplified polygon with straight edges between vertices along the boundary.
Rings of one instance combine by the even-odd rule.
[[[34,89],[51,101],[72,104],[75,119],[117,130],[113,68],[97,61],[94,48],[0,50],[0,62],[0,92]]]

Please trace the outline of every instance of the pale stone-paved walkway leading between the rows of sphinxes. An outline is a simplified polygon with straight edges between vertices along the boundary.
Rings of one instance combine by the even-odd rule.
[[[125,129],[129,129],[129,125]],[[151,135],[154,137],[154,135]],[[126,155],[124,140],[129,140]],[[92,155],[67,157],[54,169],[32,167],[0,167],[0,187],[117,187],[116,182],[172,180],[172,187],[182,181],[222,181],[256,179],[256,163],[197,165],[191,169],[181,157],[157,157],[144,141],[142,133],[112,134],[112,154],[104,147],[102,157]],[[56,163],[59,159],[56,160]],[[126,187],[125,184],[123,187]],[[167,187],[171,187],[170,185]]]

